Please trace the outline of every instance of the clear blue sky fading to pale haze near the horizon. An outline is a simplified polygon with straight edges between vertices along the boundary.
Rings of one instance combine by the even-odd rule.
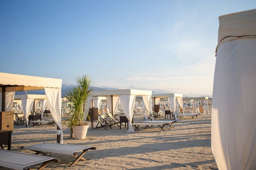
[[[218,17],[256,1],[1,0],[0,72],[212,96]]]

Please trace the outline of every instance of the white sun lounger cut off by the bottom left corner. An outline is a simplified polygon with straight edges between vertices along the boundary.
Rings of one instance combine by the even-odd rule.
[[[23,152],[0,150],[0,166],[16,170],[29,170],[28,166],[43,163],[37,170],[46,167],[50,162],[59,162],[59,159],[33,155]]]

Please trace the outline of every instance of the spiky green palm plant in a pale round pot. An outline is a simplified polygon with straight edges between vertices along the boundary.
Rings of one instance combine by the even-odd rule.
[[[67,92],[67,99],[71,102],[70,112],[68,113],[68,126],[74,132],[75,139],[84,139],[86,137],[88,117],[87,100],[92,95],[93,89],[91,87],[92,79],[89,75],[82,75],[76,78],[77,86]],[[88,117],[90,120],[90,117]]]

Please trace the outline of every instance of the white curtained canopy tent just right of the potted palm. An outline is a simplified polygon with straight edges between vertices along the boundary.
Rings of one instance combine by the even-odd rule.
[[[133,118],[133,109],[134,109],[134,102],[135,102],[136,96],[146,96],[144,98],[149,105],[149,102],[151,104],[151,95],[152,95],[152,91],[134,90],[134,89],[94,91],[92,94],[93,97],[106,97],[107,101],[110,98],[111,104],[110,102],[108,102],[108,107],[110,108],[110,111],[112,114],[114,114],[115,112],[114,110],[117,107],[118,100],[120,99],[120,103],[123,108],[124,114],[129,120],[128,132],[134,131],[132,127],[132,118]]]

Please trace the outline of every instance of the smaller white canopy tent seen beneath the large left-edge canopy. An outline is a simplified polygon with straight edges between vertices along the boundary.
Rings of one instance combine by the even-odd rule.
[[[39,101],[41,101],[41,111],[43,112],[44,109],[46,108],[46,103],[47,103],[46,95],[34,95],[34,94],[15,95],[14,99],[21,100],[21,105],[23,108],[24,116],[26,118],[27,126],[28,126],[28,116],[30,114],[30,111],[35,113],[36,107],[37,107]],[[43,116],[43,114],[42,114],[42,116]]]

